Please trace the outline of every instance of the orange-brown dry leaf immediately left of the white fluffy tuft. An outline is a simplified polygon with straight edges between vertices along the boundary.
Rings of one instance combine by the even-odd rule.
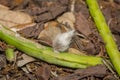
[[[55,21],[48,22],[44,26],[44,30],[39,34],[39,39],[43,40],[47,44],[51,45],[53,39],[57,34],[61,33],[61,29],[58,26],[58,23]]]

